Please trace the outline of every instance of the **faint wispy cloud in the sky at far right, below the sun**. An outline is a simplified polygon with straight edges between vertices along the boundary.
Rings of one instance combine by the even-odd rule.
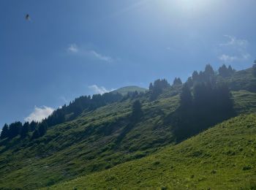
[[[223,62],[246,61],[250,58],[247,52],[249,42],[246,39],[237,39],[236,37],[225,35],[227,42],[220,43],[219,47],[222,54],[219,60]]]

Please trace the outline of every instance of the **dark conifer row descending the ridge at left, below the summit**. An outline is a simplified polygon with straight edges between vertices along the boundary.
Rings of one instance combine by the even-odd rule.
[[[1,131],[0,140],[5,138],[12,139],[20,135],[20,138],[25,138],[31,133],[31,140],[42,137],[50,126],[55,126],[59,123],[71,121],[76,118],[83,110],[95,110],[97,107],[104,106],[113,102],[118,102],[123,98],[118,93],[105,93],[105,94],[94,94],[93,96],[80,96],[74,101],[70,102],[69,105],[64,104],[63,107],[54,110],[53,113],[45,118],[41,122],[31,121],[21,123],[15,121],[10,125],[4,124]]]

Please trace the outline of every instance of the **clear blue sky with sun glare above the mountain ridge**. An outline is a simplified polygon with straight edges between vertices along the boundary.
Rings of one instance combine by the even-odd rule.
[[[0,126],[211,64],[252,66],[256,1],[0,1]],[[25,20],[29,13],[31,20]]]

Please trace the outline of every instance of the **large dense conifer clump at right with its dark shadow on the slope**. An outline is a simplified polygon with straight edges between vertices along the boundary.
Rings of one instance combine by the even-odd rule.
[[[228,77],[235,72],[231,66],[221,66],[219,71],[225,70],[223,68],[230,74],[224,72],[222,77]],[[167,121],[172,124],[173,132],[180,141],[234,115],[236,113],[229,87],[226,83],[217,81],[217,72],[208,64],[203,72],[193,72],[192,77],[184,83],[180,94],[180,107]]]

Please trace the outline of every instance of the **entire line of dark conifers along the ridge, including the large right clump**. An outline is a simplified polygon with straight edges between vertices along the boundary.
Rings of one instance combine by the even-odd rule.
[[[149,99],[153,101],[162,94],[167,88],[175,88],[181,91],[181,106],[176,110],[170,118],[173,118],[173,125],[176,126],[177,137],[184,138],[185,121],[190,123],[201,123],[191,129],[186,129],[187,134],[195,134],[203,129],[204,126],[209,126],[212,123],[228,118],[233,114],[233,102],[230,91],[224,83],[218,83],[217,77],[230,77],[236,72],[231,66],[222,65],[215,72],[210,64],[206,65],[204,71],[193,72],[191,77],[183,84],[181,78],[176,77],[173,84],[165,79],[155,80],[149,84],[148,93]],[[256,77],[256,61],[252,66],[252,75]],[[129,92],[122,96],[118,93],[94,94],[93,96],[80,96],[68,105],[53,111],[53,113],[41,122],[32,121],[31,123],[21,123],[16,121],[10,125],[4,124],[1,131],[0,140],[8,138],[12,139],[20,135],[20,138],[30,137],[31,140],[42,137],[50,126],[55,126],[59,123],[71,121],[76,118],[84,110],[95,110],[98,107],[105,106],[113,102],[124,101],[126,99],[139,99],[144,96],[144,93]],[[221,116],[223,115],[223,117]],[[135,116],[133,116],[135,117]],[[195,121],[195,118],[202,118],[200,121]],[[215,118],[214,118],[215,117]],[[182,118],[182,119],[181,119]],[[186,118],[186,119],[185,119]],[[180,120],[180,121],[178,121]],[[183,121],[183,123],[178,123]],[[206,123],[206,121],[209,121]],[[185,123],[184,123],[185,122]],[[179,126],[179,127],[178,127]],[[192,126],[187,125],[187,126]]]

